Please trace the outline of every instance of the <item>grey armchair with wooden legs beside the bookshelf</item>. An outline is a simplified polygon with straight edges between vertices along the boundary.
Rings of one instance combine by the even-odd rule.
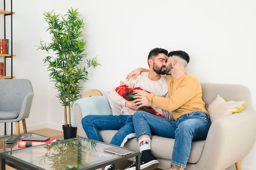
[[[33,97],[28,79],[0,79],[0,122],[16,122],[16,134],[20,134],[22,120],[24,133],[27,133],[25,119],[29,117]]]

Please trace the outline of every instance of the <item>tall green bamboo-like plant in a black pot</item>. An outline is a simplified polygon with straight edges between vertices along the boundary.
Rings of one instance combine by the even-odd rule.
[[[49,54],[43,59],[43,63],[48,66],[50,81],[54,82],[54,88],[58,91],[56,97],[64,106],[64,139],[76,137],[76,128],[71,125],[71,112],[73,102],[81,98],[81,82],[88,80],[87,69],[100,65],[97,57],[94,57],[86,60],[86,66],[81,66],[83,58],[87,55],[84,53],[86,41],[82,38],[84,34],[81,31],[85,22],[79,18],[81,14],[77,10],[71,7],[64,16],[56,15],[54,10],[44,12],[43,15],[49,25],[46,31],[49,31],[52,40],[48,44],[41,40],[40,46],[37,46]],[[75,131],[71,136],[70,128]],[[68,131],[65,133],[66,129]]]

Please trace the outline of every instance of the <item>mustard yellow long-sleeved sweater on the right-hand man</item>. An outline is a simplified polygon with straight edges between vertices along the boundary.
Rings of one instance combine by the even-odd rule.
[[[202,111],[209,115],[202,100],[202,88],[197,77],[189,73],[177,79],[172,75],[164,75],[164,77],[168,83],[168,98],[148,94],[147,97],[154,107],[171,111],[174,120],[195,111]]]

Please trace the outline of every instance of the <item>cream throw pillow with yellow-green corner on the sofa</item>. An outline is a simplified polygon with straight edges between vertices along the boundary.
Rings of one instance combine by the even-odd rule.
[[[246,102],[234,102],[226,101],[220,95],[214,99],[209,105],[208,112],[210,114],[211,123],[219,119],[220,117],[231,115],[232,113],[238,113],[243,110]]]

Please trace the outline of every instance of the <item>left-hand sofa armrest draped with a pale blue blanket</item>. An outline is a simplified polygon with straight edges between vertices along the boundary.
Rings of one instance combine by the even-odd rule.
[[[74,102],[71,123],[73,127],[77,127],[80,137],[87,137],[81,122],[86,115],[112,115],[108,99],[104,96],[92,96]]]

